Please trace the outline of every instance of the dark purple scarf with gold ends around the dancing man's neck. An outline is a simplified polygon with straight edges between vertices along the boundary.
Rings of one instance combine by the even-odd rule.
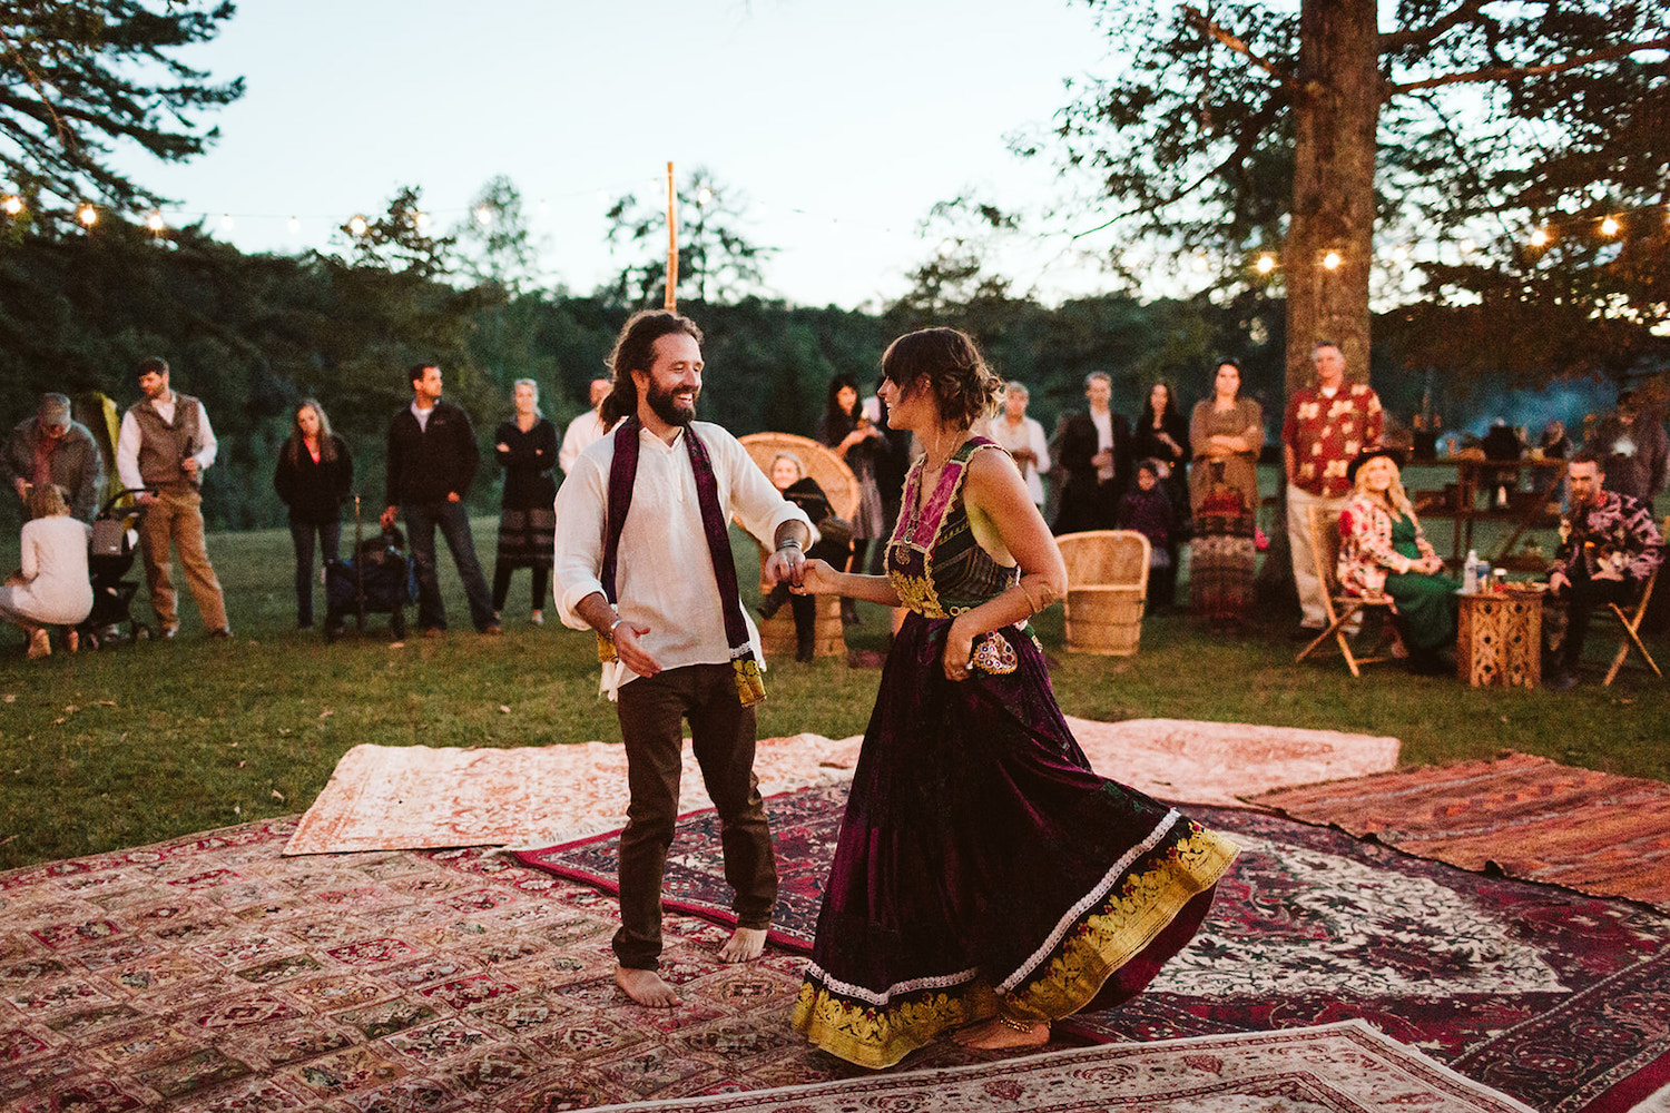
[[[610,604],[616,602],[615,571],[620,566],[621,531],[626,527],[626,512],[631,511],[633,486],[638,479],[638,431],[643,422],[628,417],[615,429],[615,459],[610,464],[610,506],[608,524],[603,537],[603,594]],[[725,642],[731,652],[731,669],[736,672],[736,699],[746,708],[765,699],[765,684],[760,679],[760,662],[753,659],[753,647],[748,644],[748,624],[741,617],[741,592],[736,587],[736,562],[731,557],[730,529],[725,512],[720,511],[720,484],[713,477],[713,461],[701,437],[690,426],[685,427],[685,449],[690,452],[690,471],[696,479],[696,506],[701,509],[701,532],[708,539],[708,556],[713,559],[713,579],[720,587],[720,607],[725,614]],[[615,644],[598,634],[598,659],[618,661]]]

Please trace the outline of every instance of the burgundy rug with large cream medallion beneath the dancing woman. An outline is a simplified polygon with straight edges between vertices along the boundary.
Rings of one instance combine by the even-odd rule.
[[[778,938],[805,949],[843,788],[770,801],[793,878]],[[1361,1018],[1546,1113],[1622,1113],[1670,1083],[1670,918],[1553,886],[1466,873],[1247,809],[1189,808],[1242,854],[1196,941],[1147,993],[1057,1038],[1147,1041]],[[795,854],[785,846],[797,846]],[[805,861],[798,853],[818,854]],[[675,839],[678,908],[728,921],[711,814]],[[613,844],[523,856],[613,884]],[[673,873],[670,869],[668,876]]]

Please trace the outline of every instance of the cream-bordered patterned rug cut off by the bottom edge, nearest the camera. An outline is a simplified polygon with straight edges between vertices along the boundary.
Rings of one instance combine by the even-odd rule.
[[[598,1113],[1531,1113],[1359,1020],[1321,1028],[1122,1043],[977,1066],[890,1071]]]

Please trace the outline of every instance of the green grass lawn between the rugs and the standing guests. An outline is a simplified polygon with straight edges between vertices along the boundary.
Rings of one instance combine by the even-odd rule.
[[[491,566],[494,521],[478,519],[474,532]],[[741,582],[753,594],[753,546],[735,547],[748,566]],[[184,627],[172,642],[27,661],[20,632],[0,631],[0,869],[304,811],[359,743],[620,739],[611,704],[596,696],[593,639],[563,629],[553,609],[543,629],[529,627],[526,572],[513,586],[504,637],[469,629],[458,577],[443,556],[451,636],[392,647],[387,616],[372,616],[366,636],[324,646],[292,629],[286,531],[210,536],[209,552],[237,631],[232,642],[202,636],[185,592]],[[15,562],[13,536],[0,564]],[[137,562],[132,576],[142,579]],[[1179,597],[1187,597],[1186,587]],[[144,597],[135,612],[150,619]],[[862,612],[865,624],[848,632],[848,644],[882,647],[885,612],[868,604]],[[1040,616],[1037,629],[1069,714],[1394,734],[1409,766],[1518,749],[1670,781],[1670,689],[1638,667],[1612,689],[1590,676],[1575,692],[1555,696],[1470,689],[1386,664],[1354,681],[1338,657],[1294,666],[1286,617],[1229,639],[1182,614],[1151,616],[1134,657],[1064,652],[1059,606]],[[1615,646],[1597,627],[1592,662]],[[1658,639],[1650,647],[1670,664],[1670,644]],[[773,664],[762,736],[843,738],[863,729],[877,669]]]

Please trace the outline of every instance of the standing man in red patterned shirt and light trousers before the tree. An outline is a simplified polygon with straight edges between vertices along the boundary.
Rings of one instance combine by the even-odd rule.
[[[1293,579],[1304,612],[1299,634],[1314,637],[1328,624],[1323,582],[1306,532],[1313,506],[1338,516],[1351,494],[1346,466],[1364,447],[1378,446],[1383,414],[1379,397],[1361,382],[1346,382],[1346,357],[1333,340],[1313,349],[1316,385],[1294,390],[1281,424],[1281,456],[1288,469],[1288,544]]]

